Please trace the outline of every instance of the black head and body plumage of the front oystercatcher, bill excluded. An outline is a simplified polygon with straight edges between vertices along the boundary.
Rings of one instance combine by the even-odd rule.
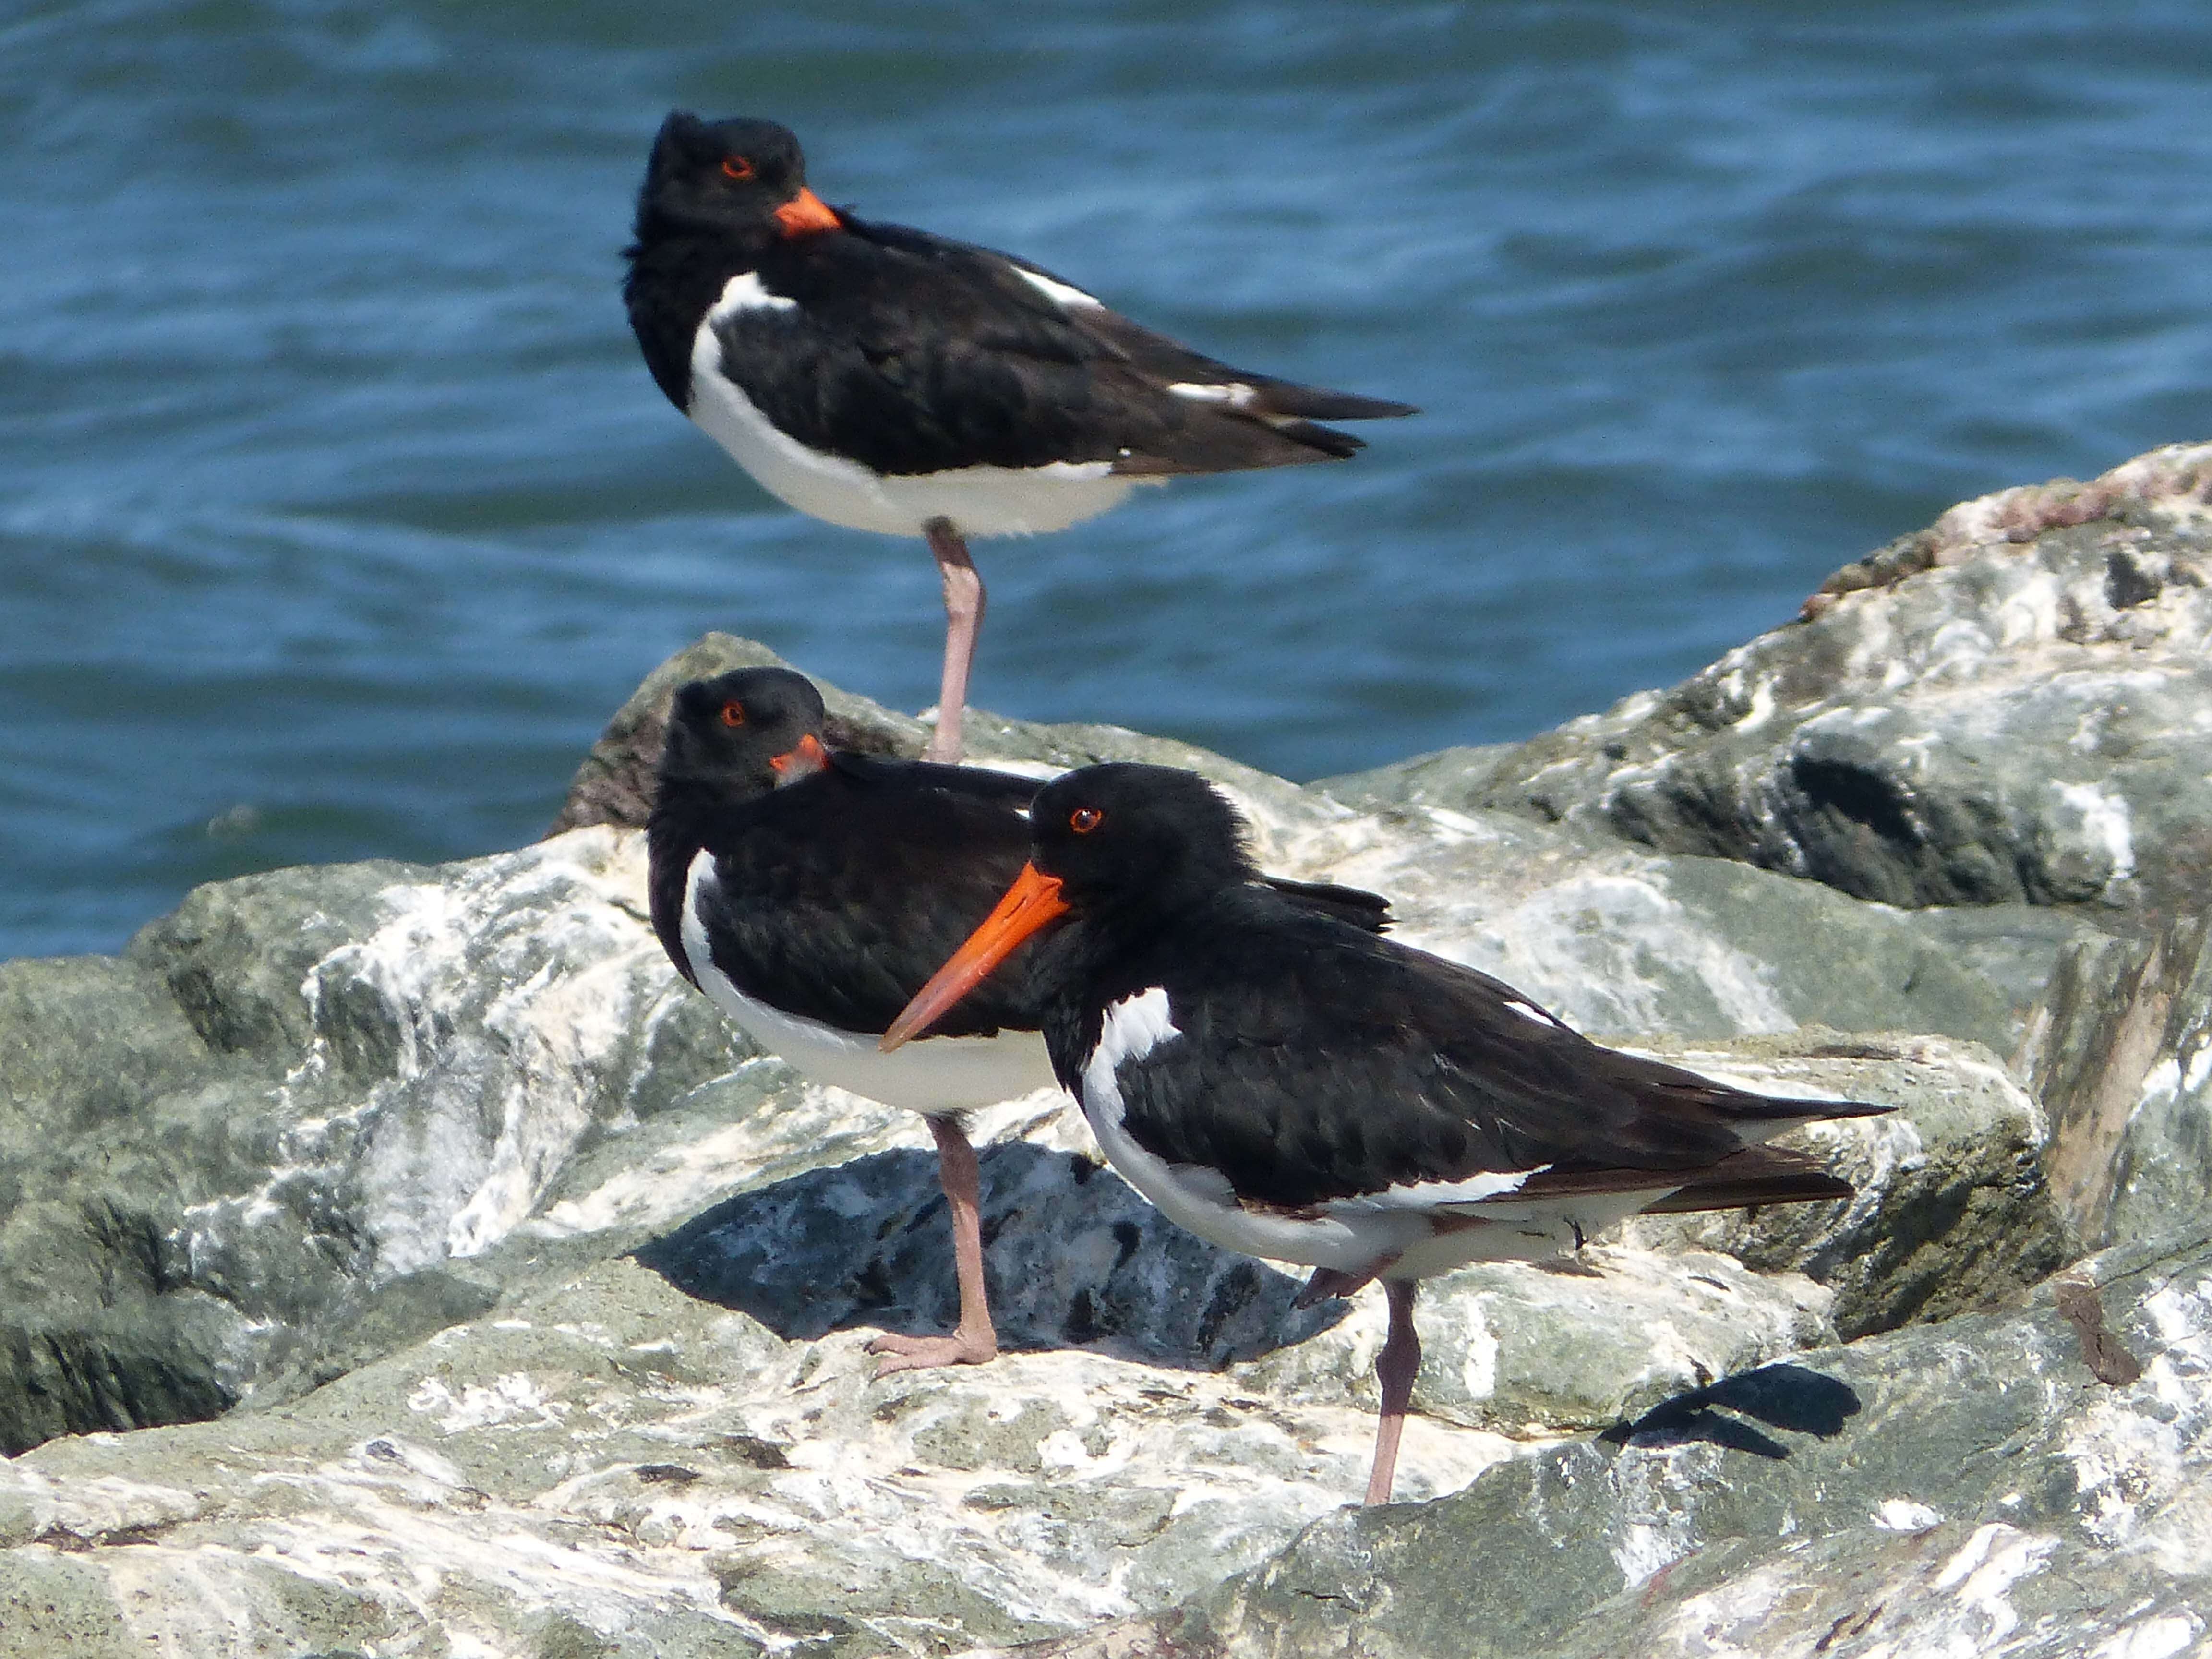
[[[1073,832],[1079,810],[1099,827]],[[1283,905],[1252,885],[1232,812],[1188,772],[1071,774],[1040,792],[1031,832],[1073,909],[1044,1018],[1053,1071],[1082,1097],[1106,1009],[1166,991],[1181,1040],[1119,1064],[1124,1124],[1248,1203],[1533,1170],[1517,1199],[1657,1194],[1719,1179],[1781,1124],[1887,1110],[1606,1048],[1502,980]],[[1827,1177],[1818,1197],[1834,1197]]]

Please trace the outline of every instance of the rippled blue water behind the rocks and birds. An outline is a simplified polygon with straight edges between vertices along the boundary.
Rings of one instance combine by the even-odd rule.
[[[2205,436],[2208,86],[2181,0],[0,11],[0,956],[526,841],[710,626],[933,699],[922,549],[774,504],[637,361],[670,104],[1425,405],[978,549],[975,701],[1316,776],[1679,679],[1962,495]]]

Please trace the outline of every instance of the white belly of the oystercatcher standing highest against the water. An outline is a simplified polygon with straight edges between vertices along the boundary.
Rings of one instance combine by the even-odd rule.
[[[776,500],[854,531],[920,535],[949,518],[962,535],[1031,535],[1097,518],[1139,484],[1104,460],[1046,467],[958,467],[942,473],[878,478],[843,456],[807,449],[776,431],[721,372],[714,314],[692,341],[690,418]]]

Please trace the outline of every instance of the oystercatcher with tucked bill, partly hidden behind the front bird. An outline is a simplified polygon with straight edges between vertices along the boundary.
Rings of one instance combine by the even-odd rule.
[[[876,1040],[1029,856],[1035,779],[823,745],[823,699],[787,668],[681,686],[646,827],[653,929],[677,971],[807,1077],[929,1119],[953,1217],[960,1327],[880,1336],[883,1371],[998,1354],[975,1148],[960,1113],[1053,1082],[1029,953],[980,980],[929,1042]],[[1383,927],[1387,902],[1276,883],[1285,902]]]

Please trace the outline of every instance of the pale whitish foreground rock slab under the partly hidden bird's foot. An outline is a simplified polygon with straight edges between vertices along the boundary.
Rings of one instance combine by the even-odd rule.
[[[945,1652],[1194,1595],[1363,1478],[1343,1400],[1099,1352],[878,1383],[863,1343],[606,1261],[274,1411],[55,1440],[0,1462],[0,1655]],[[1420,1495],[1515,1451],[1409,1449]]]

